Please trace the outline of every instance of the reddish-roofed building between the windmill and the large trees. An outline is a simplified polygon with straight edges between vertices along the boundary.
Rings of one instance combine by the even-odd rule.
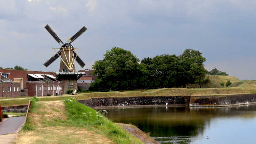
[[[95,82],[97,75],[93,75],[94,70],[80,70],[78,72],[85,72],[86,74],[77,80],[77,86],[81,90],[88,90],[92,82]]]

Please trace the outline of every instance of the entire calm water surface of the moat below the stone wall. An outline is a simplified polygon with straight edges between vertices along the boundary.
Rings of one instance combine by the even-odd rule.
[[[133,124],[161,144],[256,143],[256,104],[230,107],[108,108],[115,123]],[[208,137],[207,137],[208,136]],[[209,138],[209,139],[208,139]]]

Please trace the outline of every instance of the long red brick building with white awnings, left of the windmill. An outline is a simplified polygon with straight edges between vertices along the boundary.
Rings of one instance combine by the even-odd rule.
[[[56,95],[63,90],[54,72],[0,69],[0,97]]]

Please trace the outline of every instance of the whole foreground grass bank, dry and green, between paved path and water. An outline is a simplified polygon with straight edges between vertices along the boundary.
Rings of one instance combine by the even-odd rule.
[[[142,144],[95,110],[74,99],[31,101],[27,122],[14,144]]]

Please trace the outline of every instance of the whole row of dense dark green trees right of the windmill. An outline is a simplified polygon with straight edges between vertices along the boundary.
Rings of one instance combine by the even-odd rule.
[[[97,60],[93,73],[97,74],[90,91],[124,89],[155,89],[184,87],[209,82],[203,62],[206,58],[194,49],[186,49],[181,55],[163,54],[144,58],[141,63],[130,51],[112,47],[106,51],[103,60]]]

